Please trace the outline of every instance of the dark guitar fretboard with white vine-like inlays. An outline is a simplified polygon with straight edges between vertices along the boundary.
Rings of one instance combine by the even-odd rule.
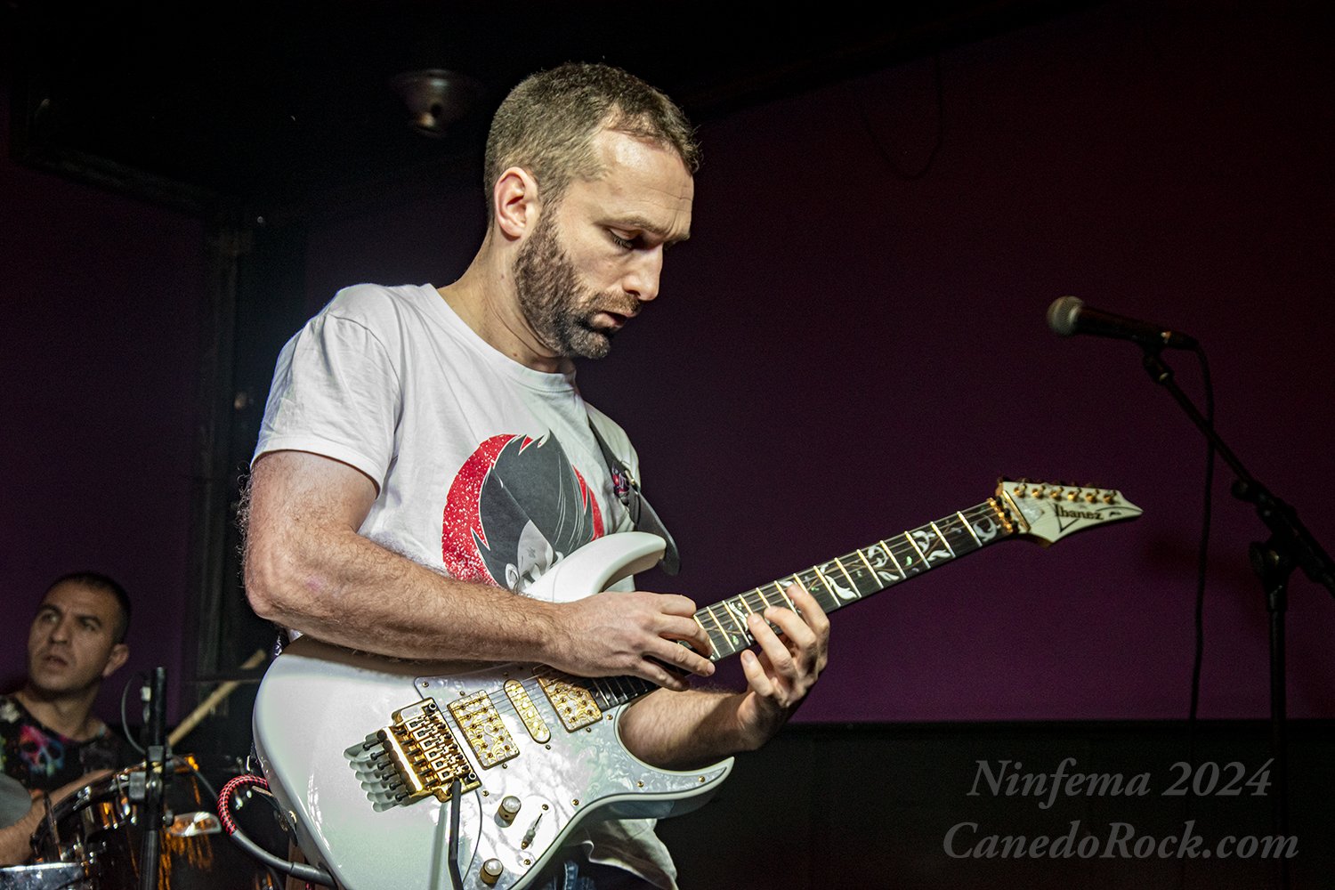
[[[832,612],[1012,534],[997,503],[985,500],[706,606],[696,612],[696,622],[709,634],[713,643],[709,658],[717,662],[754,644],[746,630],[749,614],[770,606],[794,608],[786,592],[790,586],[806,590],[821,608]],[[625,705],[657,689],[638,677],[605,677],[582,683],[602,709]]]

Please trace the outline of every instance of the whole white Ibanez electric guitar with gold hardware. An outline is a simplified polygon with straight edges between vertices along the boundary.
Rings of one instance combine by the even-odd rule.
[[[696,620],[718,660],[753,643],[749,612],[792,607],[789,584],[829,612],[1007,538],[1049,544],[1140,512],[1111,490],[1003,479],[975,507],[701,608]],[[557,562],[533,595],[598,592],[662,550],[642,532],[599,538]],[[521,890],[586,821],[696,809],[732,771],[732,758],[674,771],[626,751],[618,718],[653,689],[543,664],[394,660],[302,636],[260,685],[255,745],[307,859],[339,886],[454,886],[458,819],[461,890]]]

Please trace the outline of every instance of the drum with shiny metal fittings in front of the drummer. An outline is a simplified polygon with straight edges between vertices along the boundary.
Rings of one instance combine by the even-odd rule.
[[[138,887],[144,833],[131,787],[143,781],[143,767],[121,770],[56,803],[33,835],[36,861],[81,863],[79,890]],[[163,798],[159,890],[279,890],[268,870],[223,834],[218,802],[192,758],[172,758]]]

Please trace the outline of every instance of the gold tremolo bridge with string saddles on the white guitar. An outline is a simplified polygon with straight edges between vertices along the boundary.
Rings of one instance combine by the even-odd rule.
[[[462,791],[482,785],[454,739],[445,714],[430,698],[394,711],[394,721],[368,737],[367,749],[375,747],[379,750],[371,762],[378,766],[376,775],[398,803],[413,803],[427,795],[449,801],[455,779]]]

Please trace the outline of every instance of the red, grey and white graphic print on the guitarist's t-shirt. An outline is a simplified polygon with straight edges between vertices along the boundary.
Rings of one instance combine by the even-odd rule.
[[[523,592],[558,559],[601,536],[598,502],[557,436],[503,434],[479,444],[455,474],[441,558],[461,580]]]

